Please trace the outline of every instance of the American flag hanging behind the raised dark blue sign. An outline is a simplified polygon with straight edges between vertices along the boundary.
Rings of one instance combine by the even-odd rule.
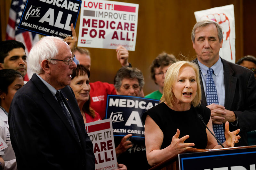
[[[25,2],[26,0],[12,0],[10,12],[9,12],[8,24],[6,27],[5,39],[6,40],[15,39],[17,41],[22,42],[26,47],[25,52],[28,56],[28,53],[31,50],[32,45],[35,44],[37,41],[39,41],[39,36],[36,33],[18,29],[18,25],[20,23],[20,17],[25,7]],[[27,75],[29,78],[31,78],[32,74],[33,73],[28,69]],[[25,76],[25,78],[27,77]]]

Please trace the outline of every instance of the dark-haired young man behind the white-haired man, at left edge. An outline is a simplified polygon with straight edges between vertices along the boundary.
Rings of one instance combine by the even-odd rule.
[[[25,46],[16,40],[5,40],[0,43],[0,69],[13,69],[20,72],[24,81],[28,81],[27,56]]]

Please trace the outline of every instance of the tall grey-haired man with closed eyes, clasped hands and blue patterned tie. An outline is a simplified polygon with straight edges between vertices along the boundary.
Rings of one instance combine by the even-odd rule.
[[[246,132],[256,129],[253,72],[220,57],[223,34],[217,22],[197,22],[191,38],[201,73],[202,105],[211,109],[214,133],[220,141],[225,141],[225,122],[228,121],[230,131],[240,128],[241,139],[235,146],[248,145]]]

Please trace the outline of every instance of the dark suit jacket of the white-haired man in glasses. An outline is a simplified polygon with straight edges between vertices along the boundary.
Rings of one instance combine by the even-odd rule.
[[[9,113],[12,147],[19,170],[94,170],[92,142],[69,86],[60,90],[80,143],[58,101],[34,74],[15,94]]]

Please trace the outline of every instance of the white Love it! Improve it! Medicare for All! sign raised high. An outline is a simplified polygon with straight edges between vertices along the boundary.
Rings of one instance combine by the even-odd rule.
[[[77,46],[135,51],[139,4],[83,0]]]

